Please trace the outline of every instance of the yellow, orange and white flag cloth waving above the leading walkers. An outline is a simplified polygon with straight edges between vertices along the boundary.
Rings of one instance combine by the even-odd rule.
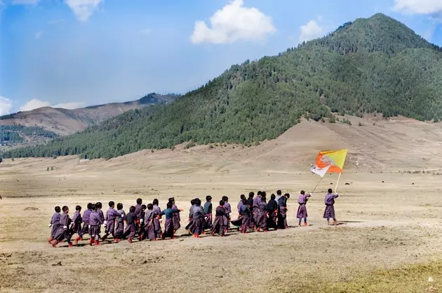
[[[321,177],[326,173],[342,173],[347,151],[345,149],[319,152],[318,157],[316,157],[316,164],[310,171]]]

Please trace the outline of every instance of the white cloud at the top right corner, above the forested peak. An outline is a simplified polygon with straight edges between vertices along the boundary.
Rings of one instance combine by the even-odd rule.
[[[407,14],[429,14],[442,13],[441,0],[395,0],[393,10]]]

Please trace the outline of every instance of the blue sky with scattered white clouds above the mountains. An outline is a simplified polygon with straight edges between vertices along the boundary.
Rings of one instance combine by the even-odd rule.
[[[0,115],[185,94],[375,13],[442,45],[442,0],[0,0]]]

